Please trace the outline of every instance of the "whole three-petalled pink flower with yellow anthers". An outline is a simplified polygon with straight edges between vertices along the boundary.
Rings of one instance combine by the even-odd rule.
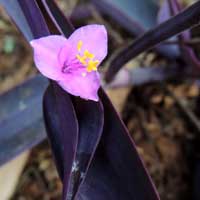
[[[38,70],[67,92],[98,101],[99,64],[107,55],[107,32],[103,25],[87,25],[66,39],[51,35],[32,40]]]

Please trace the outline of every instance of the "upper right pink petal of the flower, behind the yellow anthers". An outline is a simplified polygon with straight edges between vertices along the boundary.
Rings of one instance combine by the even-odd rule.
[[[78,48],[80,48],[82,54],[85,50],[94,54],[94,59],[98,60],[99,63],[107,55],[107,31],[103,25],[94,24],[78,28],[68,38],[68,41],[77,52]],[[80,41],[81,46],[78,45]]]

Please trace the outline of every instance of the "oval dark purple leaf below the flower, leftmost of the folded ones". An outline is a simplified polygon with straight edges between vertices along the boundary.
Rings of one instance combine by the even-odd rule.
[[[43,108],[59,175],[62,180],[69,179],[78,141],[78,122],[70,96],[52,82],[45,92]]]

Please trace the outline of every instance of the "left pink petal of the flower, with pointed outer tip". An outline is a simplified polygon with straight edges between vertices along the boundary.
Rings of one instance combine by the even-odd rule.
[[[67,39],[60,35],[51,35],[32,40],[30,44],[34,49],[34,61],[38,70],[50,79],[64,79],[59,53],[64,46],[69,46]]]

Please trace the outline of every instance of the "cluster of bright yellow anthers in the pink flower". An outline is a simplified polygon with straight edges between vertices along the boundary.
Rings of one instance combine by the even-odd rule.
[[[78,52],[81,52],[81,48],[83,46],[83,42],[79,40],[77,44]],[[79,62],[86,67],[87,72],[97,71],[97,66],[99,64],[98,60],[95,60],[95,55],[89,52],[87,49],[84,50],[83,55],[81,56],[80,53],[76,55],[76,58]],[[84,74],[85,76],[86,74]]]

